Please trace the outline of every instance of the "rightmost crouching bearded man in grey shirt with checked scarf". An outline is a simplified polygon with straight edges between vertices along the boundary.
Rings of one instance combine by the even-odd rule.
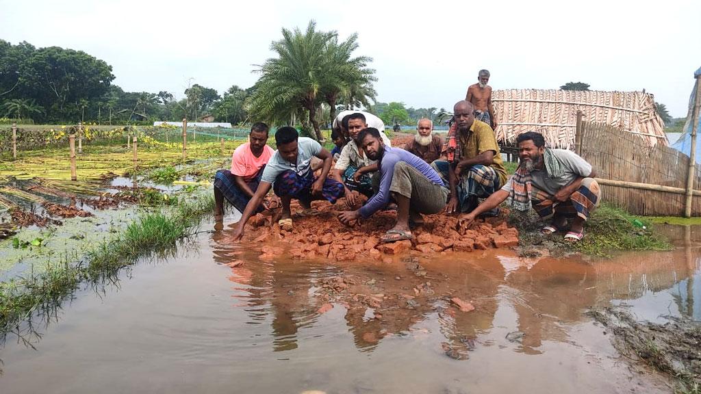
[[[540,133],[523,133],[516,142],[521,163],[514,176],[475,210],[461,215],[460,226],[467,228],[479,214],[508,198],[515,209],[532,207],[541,219],[550,219],[541,230],[544,234],[564,231],[569,222],[564,239],[582,240],[584,222],[601,200],[592,165],[573,151],[546,148]]]

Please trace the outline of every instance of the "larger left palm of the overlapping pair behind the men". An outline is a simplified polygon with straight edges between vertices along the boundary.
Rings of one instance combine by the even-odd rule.
[[[317,31],[313,20],[306,32],[283,28],[283,39],[271,44],[271,50],[278,57],[266,60],[257,70],[261,78],[250,97],[249,113],[268,121],[279,121],[292,118],[301,107],[308,111],[315,137],[323,141],[316,112],[323,81],[329,78],[331,64],[327,48],[336,36],[336,32]]]

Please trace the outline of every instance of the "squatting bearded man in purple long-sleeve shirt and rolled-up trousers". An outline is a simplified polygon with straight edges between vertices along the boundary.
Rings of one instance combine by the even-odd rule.
[[[386,147],[376,128],[362,130],[358,140],[367,157],[378,161],[380,186],[362,208],[341,212],[339,220],[351,224],[360,217],[367,219],[394,200],[397,203],[397,223],[381,241],[411,239],[409,220],[419,222],[421,214],[442,212],[448,189],[426,161],[404,149]]]

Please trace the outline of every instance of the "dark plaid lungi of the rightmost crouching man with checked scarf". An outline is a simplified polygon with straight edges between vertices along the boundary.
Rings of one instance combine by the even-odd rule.
[[[553,215],[573,219],[581,217],[587,220],[589,215],[599,206],[601,199],[601,189],[594,178],[585,178],[581,186],[567,201],[556,203],[552,201],[552,195],[531,186],[531,204],[538,216],[549,219]]]

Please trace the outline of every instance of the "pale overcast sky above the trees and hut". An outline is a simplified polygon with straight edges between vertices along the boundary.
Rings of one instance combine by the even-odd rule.
[[[451,108],[482,68],[495,89],[642,90],[686,116],[701,1],[0,0],[0,39],[83,50],[127,91],[252,86],[280,29],[358,32],[378,100]]]

